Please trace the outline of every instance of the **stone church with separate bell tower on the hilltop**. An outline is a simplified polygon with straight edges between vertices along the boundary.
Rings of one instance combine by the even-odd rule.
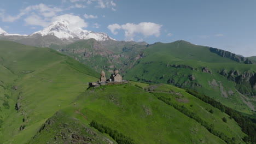
[[[101,85],[118,85],[128,83],[129,81],[123,80],[122,76],[118,74],[117,68],[114,69],[114,74],[111,74],[110,79],[106,80],[104,71],[101,71],[101,77],[98,82],[89,82],[89,87],[100,87]]]

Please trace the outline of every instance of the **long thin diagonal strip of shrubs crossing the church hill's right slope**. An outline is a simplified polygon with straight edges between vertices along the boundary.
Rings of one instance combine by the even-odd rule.
[[[182,112],[184,115],[194,119],[196,122],[200,123],[203,127],[205,127],[208,131],[210,131],[210,133],[212,133],[213,135],[218,136],[220,139],[222,139],[223,141],[225,141],[228,144],[234,144],[235,141],[230,139],[228,136],[226,136],[224,133],[217,131],[214,129],[214,124],[209,124],[208,122],[204,121],[202,118],[200,118],[198,115],[196,115],[196,113],[189,111],[184,105],[178,105],[176,103],[172,103],[170,98],[165,98],[161,95],[159,95],[158,93],[153,93],[156,98],[158,98],[159,100],[163,101],[164,103],[173,106],[174,109]]]

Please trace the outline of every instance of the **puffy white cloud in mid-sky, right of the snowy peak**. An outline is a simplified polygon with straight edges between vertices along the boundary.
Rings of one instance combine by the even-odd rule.
[[[113,34],[118,34],[116,30],[123,29],[125,32],[125,40],[133,40],[136,34],[143,34],[144,37],[148,37],[150,35],[154,35],[155,37],[159,37],[160,29],[162,25],[153,22],[141,22],[138,24],[134,23],[126,23],[124,25],[118,25],[117,23],[113,25],[109,25],[108,29]]]

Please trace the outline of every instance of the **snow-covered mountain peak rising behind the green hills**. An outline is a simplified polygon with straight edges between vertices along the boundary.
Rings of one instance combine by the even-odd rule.
[[[95,33],[92,31],[86,31],[82,28],[72,28],[67,20],[55,21],[51,23],[49,27],[44,28],[42,31],[35,32],[33,34],[55,35],[60,39],[91,39],[104,41],[112,39],[105,33]],[[31,34],[31,35],[33,35]]]

